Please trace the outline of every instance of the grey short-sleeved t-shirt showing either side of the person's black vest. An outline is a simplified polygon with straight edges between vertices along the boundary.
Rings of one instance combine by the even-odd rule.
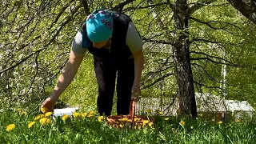
[[[126,34],[126,45],[129,47],[132,54],[138,50],[142,50],[142,38],[139,36],[136,27],[133,22],[129,22],[127,34]],[[86,53],[87,47],[82,47],[82,33],[78,31],[72,42],[72,50],[77,54]]]

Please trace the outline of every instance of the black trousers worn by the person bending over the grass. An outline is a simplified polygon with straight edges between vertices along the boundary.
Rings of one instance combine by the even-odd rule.
[[[94,71],[98,81],[98,113],[111,115],[117,77],[117,113],[129,114],[131,90],[134,84],[134,58],[117,61],[94,57]]]

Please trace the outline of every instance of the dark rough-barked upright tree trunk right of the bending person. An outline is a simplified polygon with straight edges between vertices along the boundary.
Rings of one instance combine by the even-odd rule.
[[[178,84],[179,113],[197,117],[194,97],[194,80],[190,65],[190,42],[188,34],[188,9],[186,0],[174,3],[174,71]]]

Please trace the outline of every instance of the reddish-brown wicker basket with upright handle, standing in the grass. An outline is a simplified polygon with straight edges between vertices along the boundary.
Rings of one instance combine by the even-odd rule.
[[[147,116],[136,116],[135,115],[135,100],[134,98],[130,101],[130,114],[128,115],[115,115],[115,116],[107,116],[107,122],[110,126],[122,127],[126,124],[129,126],[138,126],[138,128],[142,128],[146,124],[150,122],[154,122],[154,118]]]

